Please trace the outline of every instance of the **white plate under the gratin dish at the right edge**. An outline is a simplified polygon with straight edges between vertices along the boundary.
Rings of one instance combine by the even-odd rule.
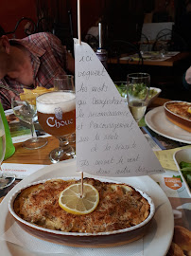
[[[155,133],[172,140],[191,144],[191,133],[169,121],[164,106],[150,110],[145,116],[146,124]]]

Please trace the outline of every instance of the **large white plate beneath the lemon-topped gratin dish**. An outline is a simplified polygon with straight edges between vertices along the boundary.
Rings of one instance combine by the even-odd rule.
[[[147,192],[152,198],[156,212],[147,234],[141,240],[120,247],[107,248],[83,248],[83,247],[65,247],[49,243],[31,236],[24,229],[21,229],[9,213],[9,199],[14,192],[17,192],[29,183],[37,182],[42,179],[78,176],[76,172],[76,160],[66,160],[58,164],[47,166],[34,174],[27,176],[18,183],[4,198],[0,205],[0,247],[2,255],[48,255],[50,253],[59,253],[55,255],[147,255],[165,256],[170,247],[173,231],[174,217],[165,192],[149,176],[140,177],[112,177],[117,182],[125,182],[130,186],[136,187],[143,192]],[[84,174],[85,175],[85,174]],[[86,174],[89,177],[95,177]],[[98,178],[97,176],[95,178]],[[167,216],[167,217],[166,217]],[[18,226],[18,227],[17,227]],[[19,231],[18,231],[18,228]],[[16,233],[16,231],[18,233]],[[12,240],[15,238],[15,242]],[[9,241],[9,242],[8,242]],[[29,244],[27,244],[29,241]],[[18,244],[20,243],[20,246]],[[23,243],[23,246],[21,246]],[[16,245],[15,245],[16,244]],[[136,251],[135,251],[136,250]],[[22,252],[22,253],[21,253]],[[136,252],[136,253],[135,253]],[[43,254],[44,253],[44,254]]]

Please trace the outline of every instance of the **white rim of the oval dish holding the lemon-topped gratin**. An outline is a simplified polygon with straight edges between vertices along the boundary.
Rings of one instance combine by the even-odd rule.
[[[37,185],[37,184],[40,184],[40,183],[44,183],[45,181],[48,181],[48,180],[56,180],[56,179],[62,179],[62,180],[76,179],[76,180],[80,180],[80,177],[78,177],[78,176],[71,176],[71,177],[57,177],[57,178],[43,179],[43,180],[39,180],[39,181],[36,181],[36,182],[29,183],[26,186],[24,186],[21,189],[19,189],[17,192],[14,192],[11,195],[10,199],[9,199],[9,212],[14,217],[14,219],[17,220],[19,223],[22,223],[22,224],[24,224],[27,227],[30,227],[32,229],[36,229],[36,230],[40,230],[40,231],[43,231],[43,232],[48,232],[48,233],[52,233],[52,234],[56,234],[56,235],[62,235],[62,236],[81,236],[81,237],[85,237],[85,236],[88,236],[88,237],[89,236],[100,236],[101,237],[101,236],[114,235],[114,234],[118,234],[118,233],[130,232],[130,231],[134,231],[136,229],[144,228],[152,220],[152,218],[154,217],[154,214],[155,214],[154,202],[153,202],[152,198],[148,195],[147,192],[143,192],[143,191],[137,189],[136,187],[128,185],[127,183],[123,183],[123,182],[120,182],[120,181],[114,181],[114,180],[111,180],[111,179],[99,178],[99,177],[95,178],[95,179],[98,179],[98,180],[100,180],[102,182],[110,182],[110,183],[114,183],[114,184],[116,184],[116,183],[117,184],[125,184],[125,185],[128,185],[128,186],[132,187],[135,191],[140,192],[141,195],[148,201],[148,204],[150,206],[148,217],[143,222],[141,222],[140,224],[135,225],[135,226],[130,227],[130,228],[126,228],[126,229],[117,229],[117,230],[113,230],[113,231],[97,232],[97,233],[79,233],[79,232],[63,232],[63,231],[54,230],[54,229],[45,229],[45,228],[43,228],[41,226],[37,226],[35,224],[31,224],[31,223],[27,222],[26,220],[22,219],[21,217],[19,217],[15,213],[15,211],[13,209],[13,202],[14,202],[16,196],[20,192],[22,192],[23,190],[25,190],[26,188],[28,188],[28,187],[30,187],[32,185]]]

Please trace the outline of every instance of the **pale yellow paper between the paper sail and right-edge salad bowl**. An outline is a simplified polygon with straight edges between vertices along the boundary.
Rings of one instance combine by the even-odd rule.
[[[175,152],[186,148],[191,148],[191,145],[170,150],[154,151],[154,154],[157,156],[164,169],[178,171],[177,166],[173,159],[173,155]]]

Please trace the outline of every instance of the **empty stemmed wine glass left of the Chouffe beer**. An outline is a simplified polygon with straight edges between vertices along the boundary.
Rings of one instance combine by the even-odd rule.
[[[27,139],[23,146],[26,149],[40,149],[47,144],[45,137],[37,137],[35,133],[34,121],[37,120],[36,97],[38,94],[33,93],[25,95],[26,100],[15,98],[11,99],[11,107],[14,115],[30,125],[31,138]]]

